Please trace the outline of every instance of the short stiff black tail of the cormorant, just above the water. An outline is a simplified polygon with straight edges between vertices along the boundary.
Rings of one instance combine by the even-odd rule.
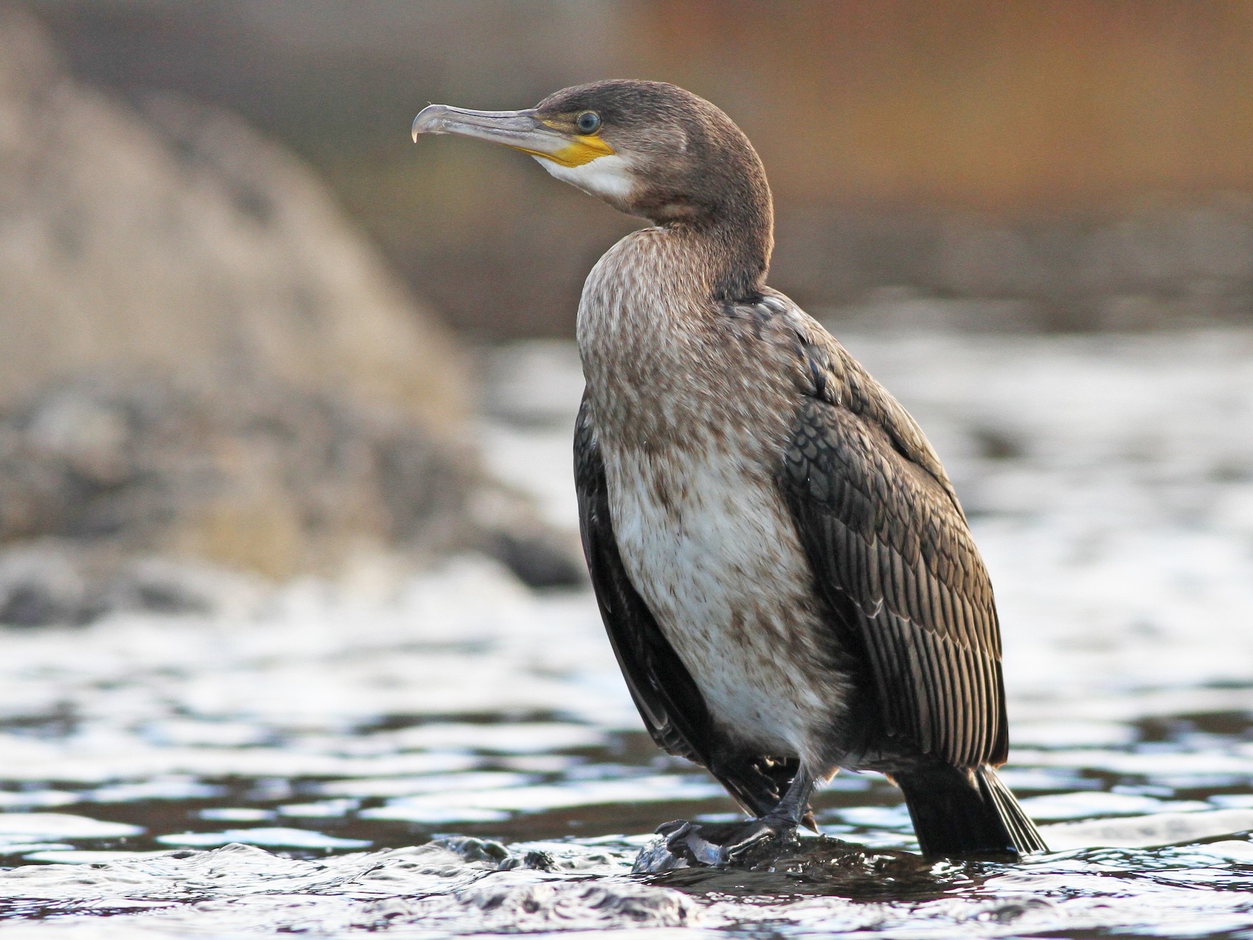
[[[1048,851],[1035,823],[987,765],[935,763],[893,773],[905,792],[922,854],[1020,856]]]

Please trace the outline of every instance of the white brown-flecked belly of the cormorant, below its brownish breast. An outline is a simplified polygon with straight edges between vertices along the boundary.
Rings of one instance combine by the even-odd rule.
[[[773,483],[724,449],[605,464],[626,572],[714,719],[763,753],[816,761],[838,689]]]

